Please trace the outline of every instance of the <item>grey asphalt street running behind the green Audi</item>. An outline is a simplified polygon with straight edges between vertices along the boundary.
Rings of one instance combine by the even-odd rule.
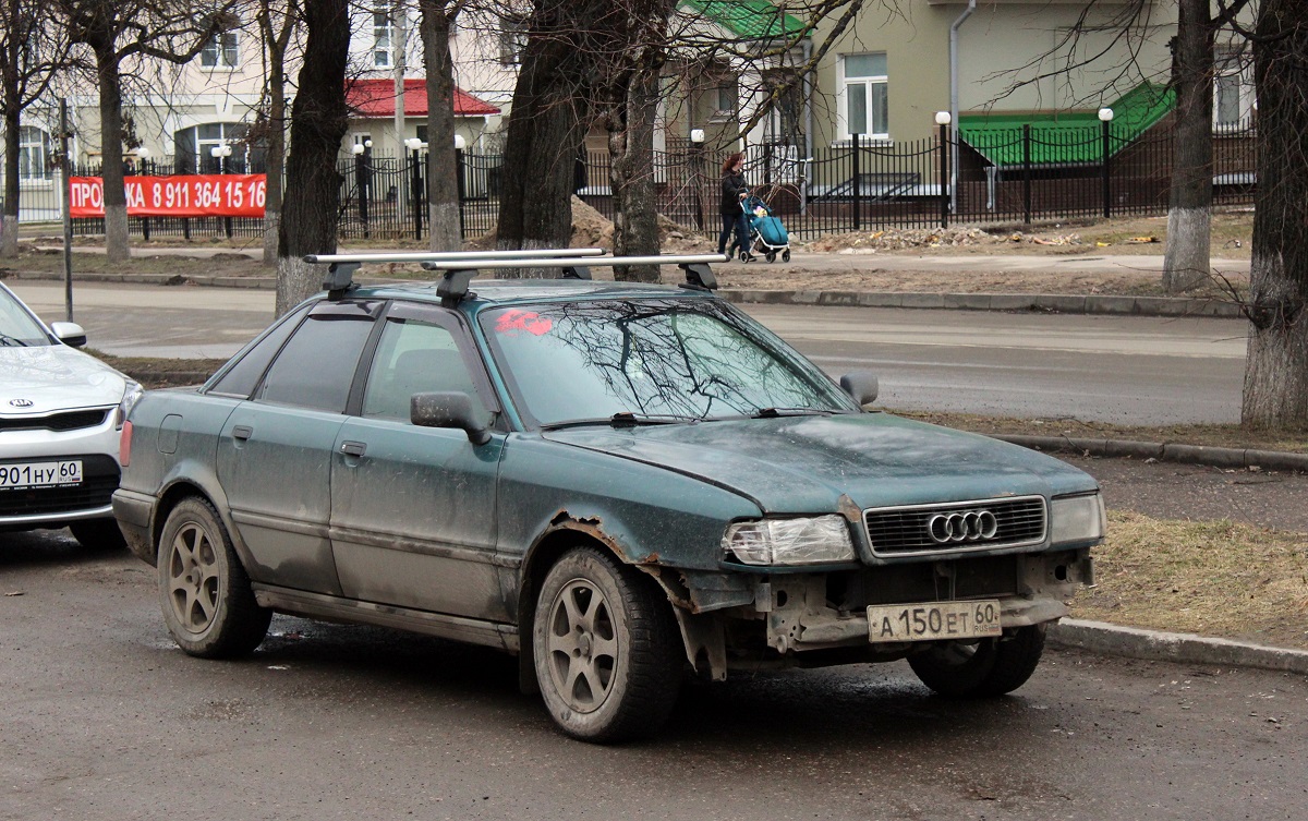
[[[56,282],[14,290],[63,319]],[[269,292],[78,285],[90,345],[226,357],[272,318]],[[1228,319],[746,306],[829,373],[872,370],[882,405],[1137,425],[1236,422],[1245,331]]]

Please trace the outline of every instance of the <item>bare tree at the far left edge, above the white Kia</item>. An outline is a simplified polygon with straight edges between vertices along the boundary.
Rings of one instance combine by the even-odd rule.
[[[61,29],[51,24],[44,3],[0,0],[0,115],[4,118],[5,159],[0,256],[18,255],[18,129],[22,112],[46,93],[68,54]]]

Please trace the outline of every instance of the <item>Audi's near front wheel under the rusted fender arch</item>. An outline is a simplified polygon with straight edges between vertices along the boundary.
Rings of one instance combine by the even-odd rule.
[[[531,641],[545,709],[565,733],[608,744],[663,727],[683,667],[668,608],[653,583],[591,548],[549,569]]]

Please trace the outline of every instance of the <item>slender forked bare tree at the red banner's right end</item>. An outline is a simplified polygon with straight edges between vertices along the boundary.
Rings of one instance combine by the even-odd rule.
[[[281,225],[281,180],[286,161],[286,51],[301,24],[298,0],[259,0],[255,18],[263,41],[264,111],[255,135],[267,146],[268,175],[263,210],[263,264],[277,264],[277,237]]]

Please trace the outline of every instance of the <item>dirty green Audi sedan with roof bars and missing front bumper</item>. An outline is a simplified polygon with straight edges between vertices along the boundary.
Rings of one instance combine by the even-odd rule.
[[[1022,686],[1092,583],[1095,480],[867,409],[875,378],[825,375],[704,258],[663,259],[679,288],[582,267],[613,261],[368,288],[337,263],[204,386],[146,392],[114,512],[182,650],[249,654],[273,612],[488,645],[589,741],[734,671]]]

